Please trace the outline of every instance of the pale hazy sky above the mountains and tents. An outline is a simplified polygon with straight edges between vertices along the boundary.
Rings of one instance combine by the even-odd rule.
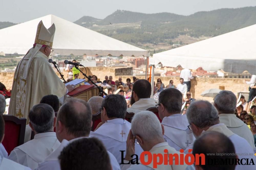
[[[190,15],[220,8],[256,6],[256,0],[0,0],[0,21],[15,23],[53,14],[69,21],[82,16],[103,19],[117,9]]]

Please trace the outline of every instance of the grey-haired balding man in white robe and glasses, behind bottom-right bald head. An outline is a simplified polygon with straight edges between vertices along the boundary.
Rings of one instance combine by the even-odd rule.
[[[186,112],[189,128],[192,130],[196,138],[198,138],[205,131],[216,131],[226,135],[233,143],[236,154],[238,154],[239,164],[236,166],[236,170],[242,169],[255,169],[255,165],[252,163],[248,165],[244,160],[248,159],[249,162],[256,162],[256,157],[254,156],[254,151],[250,144],[242,137],[234,134],[227,126],[223,123],[219,123],[218,111],[216,108],[208,101],[195,101],[191,103]],[[193,144],[191,144],[187,149],[192,149]],[[184,153],[186,153],[186,151]],[[232,160],[231,160],[232,162]]]

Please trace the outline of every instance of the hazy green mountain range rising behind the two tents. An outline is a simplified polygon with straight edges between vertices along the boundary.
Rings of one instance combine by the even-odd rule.
[[[91,22],[87,17],[78,21],[75,23],[82,26],[82,22]],[[87,28],[134,45],[172,44],[179,35],[212,37],[256,24],[256,7],[202,11],[189,16],[117,10],[103,20],[94,19],[93,24]]]

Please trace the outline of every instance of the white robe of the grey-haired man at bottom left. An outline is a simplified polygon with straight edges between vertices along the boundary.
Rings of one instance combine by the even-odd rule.
[[[33,140],[14,148],[8,159],[35,169],[59,145],[55,132],[38,133]]]

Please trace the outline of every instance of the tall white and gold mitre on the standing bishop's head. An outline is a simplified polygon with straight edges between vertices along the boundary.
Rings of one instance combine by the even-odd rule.
[[[52,24],[50,28],[46,29],[41,20],[37,25],[35,43],[52,47],[54,33],[55,25]]]

